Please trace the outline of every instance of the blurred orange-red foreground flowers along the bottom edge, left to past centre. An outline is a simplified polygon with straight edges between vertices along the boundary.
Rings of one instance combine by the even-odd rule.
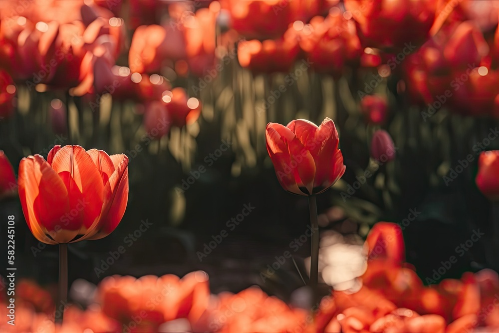
[[[5,323],[1,332],[54,332],[50,294],[31,281],[19,282],[15,330]],[[130,276],[105,278],[86,310],[75,305],[64,311],[59,333],[156,332],[300,332],[312,333],[311,316],[291,309],[257,287],[238,294],[210,295],[208,276],[193,272],[182,279]],[[5,306],[2,307],[5,312]],[[19,323],[19,324],[17,324]]]

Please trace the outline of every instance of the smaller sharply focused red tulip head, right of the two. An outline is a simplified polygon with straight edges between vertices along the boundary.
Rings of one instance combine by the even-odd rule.
[[[288,192],[322,193],[345,172],[338,132],[329,118],[319,127],[304,119],[287,126],[268,123],[265,136],[279,183]]]

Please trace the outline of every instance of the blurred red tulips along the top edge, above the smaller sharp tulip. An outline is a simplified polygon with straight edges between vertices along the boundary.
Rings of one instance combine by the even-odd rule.
[[[255,72],[287,71],[299,57],[318,72],[336,75],[346,64],[377,66],[381,56],[373,48],[394,52],[408,42],[423,43],[437,10],[436,2],[428,1],[347,0],[338,5],[315,0],[307,6],[302,5],[305,1],[239,2],[228,6],[233,27],[255,40],[249,48],[240,45],[238,55],[242,66]],[[268,23],[258,24],[254,17]],[[280,39],[259,41],[276,37]]]

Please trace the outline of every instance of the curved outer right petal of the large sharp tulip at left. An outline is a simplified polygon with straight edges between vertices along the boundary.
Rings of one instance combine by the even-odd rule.
[[[128,157],[121,156],[121,163],[104,187],[104,202],[99,222],[88,231],[84,239],[95,240],[106,237],[118,226],[128,203]]]

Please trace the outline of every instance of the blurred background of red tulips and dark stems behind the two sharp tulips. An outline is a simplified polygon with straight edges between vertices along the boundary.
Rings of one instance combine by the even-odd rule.
[[[404,238],[423,281],[478,229],[485,236],[441,279],[499,270],[497,210],[475,185],[477,152],[499,149],[484,141],[498,125],[498,1],[399,1],[378,16],[370,1],[345,2],[0,1],[0,149],[14,169],[56,144],[130,158],[123,220],[102,240],[69,246],[70,284],[203,270],[213,293],[256,284],[289,300],[303,285],[308,239],[296,267],[287,261],[265,281],[260,273],[305,232],[308,203],[278,184],[264,129],[325,117],[346,173],[318,197],[322,235],[362,244],[374,223],[400,224],[414,210]],[[396,158],[350,193],[373,163],[379,128]],[[468,154],[470,165],[446,180]],[[245,204],[255,208],[231,230]],[[15,197],[0,213],[23,219]],[[142,220],[152,225],[130,244]],[[18,274],[55,283],[57,248],[33,254],[38,241],[16,228]],[[119,246],[126,252],[96,274]]]

